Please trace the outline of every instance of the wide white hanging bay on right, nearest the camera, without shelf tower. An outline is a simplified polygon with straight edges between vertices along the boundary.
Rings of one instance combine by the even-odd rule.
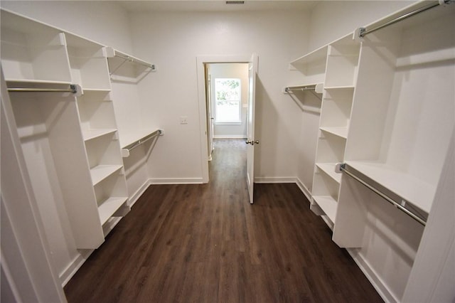
[[[341,176],[333,241],[368,265],[397,302],[417,278],[412,271],[424,262],[416,258],[426,245],[422,236],[438,220],[430,220],[432,206],[455,125],[455,36],[449,30],[454,17],[453,4],[440,5],[369,33],[358,65],[345,69],[358,75],[355,87],[349,94],[337,90],[339,100],[353,95],[350,117],[346,109],[339,111],[340,122],[348,125],[343,159],[348,171],[427,222],[414,220],[352,176]],[[351,83],[326,83],[326,92],[336,85]]]

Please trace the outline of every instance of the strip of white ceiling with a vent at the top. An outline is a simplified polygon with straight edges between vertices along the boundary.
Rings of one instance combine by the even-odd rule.
[[[308,11],[318,1],[245,0],[245,4],[225,4],[221,0],[116,1],[127,11]]]

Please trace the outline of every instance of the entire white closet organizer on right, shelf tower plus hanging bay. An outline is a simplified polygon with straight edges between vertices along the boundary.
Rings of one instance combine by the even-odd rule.
[[[422,1],[299,59],[311,83],[326,54],[311,209],[387,301],[410,296],[412,267],[429,261],[415,256],[455,125],[454,19],[455,4]],[[358,179],[335,173],[339,163]]]

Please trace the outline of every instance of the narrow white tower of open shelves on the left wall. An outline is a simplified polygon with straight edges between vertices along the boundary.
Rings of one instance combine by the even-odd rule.
[[[126,178],[112,105],[107,48],[67,34],[73,81],[82,86],[77,97],[82,136],[90,168],[95,202],[101,225],[129,211]],[[112,181],[114,180],[114,181]],[[102,228],[103,234],[109,228]]]

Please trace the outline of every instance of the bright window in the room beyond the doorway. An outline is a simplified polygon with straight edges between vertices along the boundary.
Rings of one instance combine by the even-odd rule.
[[[215,123],[241,123],[240,79],[215,79]]]

